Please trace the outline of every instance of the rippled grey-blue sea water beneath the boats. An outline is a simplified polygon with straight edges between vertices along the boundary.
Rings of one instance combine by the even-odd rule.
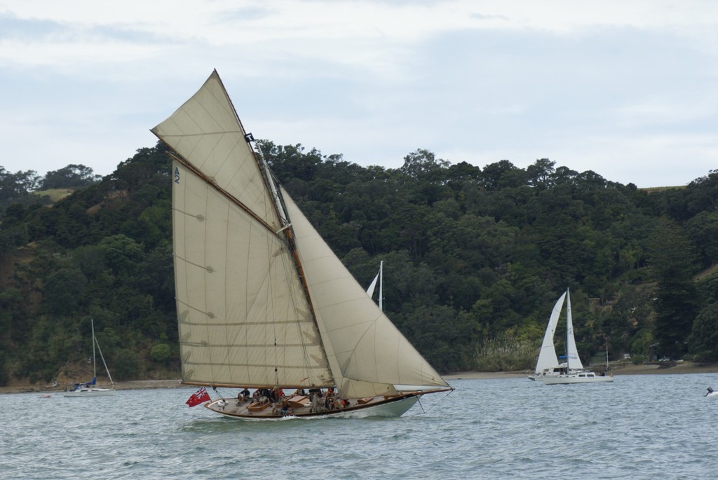
[[[0,395],[3,479],[708,479],[716,374],[452,380],[401,418],[250,422],[185,400]],[[220,390],[227,396],[231,390]]]

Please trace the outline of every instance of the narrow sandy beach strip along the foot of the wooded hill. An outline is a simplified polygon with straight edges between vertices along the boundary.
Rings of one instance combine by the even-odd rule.
[[[690,373],[717,373],[718,364],[695,364],[691,362],[670,362],[663,364],[642,364],[642,365],[615,365],[612,366],[613,375],[664,375],[664,374],[690,374]],[[521,378],[528,377],[529,370],[518,372],[454,372],[444,375],[446,380],[487,380],[495,378]],[[128,382],[116,382],[116,390],[144,390],[151,388],[191,388],[182,385],[179,379],[168,380],[132,380]],[[14,385],[0,387],[0,394],[3,393],[24,393],[42,392],[47,395],[62,393],[63,387],[51,387],[50,385],[31,385],[18,382]]]

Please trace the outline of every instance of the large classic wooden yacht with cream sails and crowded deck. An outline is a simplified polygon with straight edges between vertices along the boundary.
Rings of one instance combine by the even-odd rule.
[[[151,131],[174,160],[182,382],[243,389],[206,408],[263,420],[398,416],[452,390],[276,182],[216,70]]]

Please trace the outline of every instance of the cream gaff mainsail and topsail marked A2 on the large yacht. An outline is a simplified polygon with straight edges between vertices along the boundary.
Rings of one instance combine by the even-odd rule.
[[[152,130],[180,158],[173,238],[183,381],[333,385],[256,157],[217,72]]]

